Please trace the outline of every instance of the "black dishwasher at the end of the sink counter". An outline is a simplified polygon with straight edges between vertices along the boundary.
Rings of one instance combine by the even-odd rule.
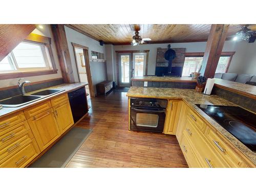
[[[74,123],[76,123],[88,112],[86,89],[83,87],[70,92],[68,95]]]

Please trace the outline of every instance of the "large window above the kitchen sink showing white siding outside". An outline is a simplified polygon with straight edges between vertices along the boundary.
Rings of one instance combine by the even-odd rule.
[[[52,70],[47,46],[36,42],[21,42],[0,61],[1,72]]]

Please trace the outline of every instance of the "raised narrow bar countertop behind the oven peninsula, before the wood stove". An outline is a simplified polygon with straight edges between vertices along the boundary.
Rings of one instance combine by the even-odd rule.
[[[158,77],[158,76],[140,76],[132,77],[132,81],[161,81],[161,82],[197,82],[192,77]]]

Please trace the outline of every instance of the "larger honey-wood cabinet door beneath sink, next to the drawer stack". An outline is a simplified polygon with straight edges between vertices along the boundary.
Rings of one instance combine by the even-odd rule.
[[[41,151],[60,136],[52,109],[30,118],[28,122]]]

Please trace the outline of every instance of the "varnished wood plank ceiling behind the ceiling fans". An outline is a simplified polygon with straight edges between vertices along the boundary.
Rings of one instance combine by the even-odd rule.
[[[72,24],[67,25],[106,44],[130,45],[135,35],[134,24]],[[149,37],[148,43],[207,41],[209,24],[139,24],[140,36]],[[230,25],[227,37],[233,36],[243,25]]]

